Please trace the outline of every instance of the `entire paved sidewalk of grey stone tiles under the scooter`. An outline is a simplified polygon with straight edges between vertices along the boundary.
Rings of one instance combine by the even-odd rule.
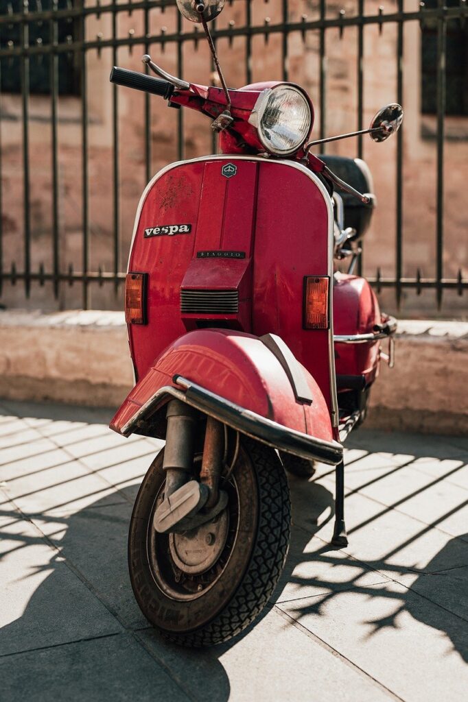
[[[280,587],[234,642],[160,640],[134,602],[126,531],[161,442],[110,412],[0,401],[0,700],[461,701],[468,695],[468,439],[361,430],[334,480],[290,479]]]

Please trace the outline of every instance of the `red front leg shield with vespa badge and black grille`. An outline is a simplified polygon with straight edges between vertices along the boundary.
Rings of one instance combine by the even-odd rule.
[[[331,284],[330,328],[303,328],[304,277],[332,277],[332,204],[305,166],[213,156],[165,168],[143,194],[129,272],[148,274],[148,324],[129,325],[137,378],[186,331],[275,333],[336,418]]]

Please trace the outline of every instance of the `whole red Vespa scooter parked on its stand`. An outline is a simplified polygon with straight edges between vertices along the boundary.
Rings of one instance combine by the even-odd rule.
[[[222,155],[171,164],[143,193],[125,291],[136,385],[110,426],[166,440],[131,518],[131,583],[165,637],[205,646],[240,633],[278,582],[285,468],[337,466],[334,543],[347,543],[342,442],[380,359],[392,362],[380,340],[396,322],[352,274],[375,204],[367,166],[310,153],[313,105],[299,86],[226,88],[207,27],[224,0],[177,4],[202,22],[223,87],[149,56],[160,79],[117,67],[110,79],[212,117]],[[382,141],[402,116],[389,105],[362,133]],[[344,256],[349,274],[334,272]]]

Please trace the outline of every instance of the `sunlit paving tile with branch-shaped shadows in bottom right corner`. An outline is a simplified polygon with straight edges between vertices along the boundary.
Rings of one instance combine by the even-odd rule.
[[[277,607],[405,701],[466,699],[466,621],[397,583]]]

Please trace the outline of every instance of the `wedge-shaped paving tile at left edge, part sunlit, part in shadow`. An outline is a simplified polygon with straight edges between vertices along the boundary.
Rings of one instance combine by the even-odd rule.
[[[63,531],[56,525],[57,538]],[[0,517],[0,533],[0,656],[122,630],[56,549],[13,508]]]

